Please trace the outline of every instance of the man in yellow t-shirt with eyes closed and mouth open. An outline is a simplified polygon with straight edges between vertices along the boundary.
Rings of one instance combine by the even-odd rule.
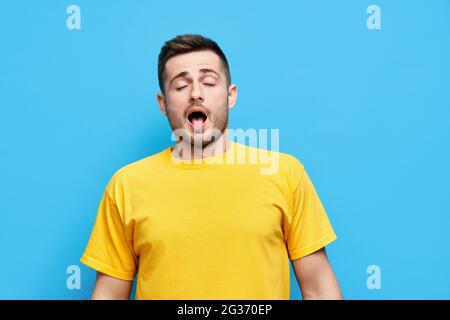
[[[336,235],[303,165],[267,151],[279,165],[263,174],[250,161],[262,150],[228,137],[237,87],[219,46],[167,41],[158,77],[176,144],[106,186],[81,258],[97,270],[92,299],[129,299],[136,273],[136,299],[289,299],[289,260],[304,299],[341,299]]]

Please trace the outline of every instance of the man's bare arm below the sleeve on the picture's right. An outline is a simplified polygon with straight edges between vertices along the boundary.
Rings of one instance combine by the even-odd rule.
[[[292,260],[292,266],[304,300],[343,299],[325,247],[303,258]]]

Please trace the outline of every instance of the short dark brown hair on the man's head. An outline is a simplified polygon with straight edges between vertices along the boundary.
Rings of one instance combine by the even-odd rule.
[[[170,58],[193,51],[211,50],[216,53],[222,60],[225,69],[225,75],[228,81],[228,86],[231,84],[230,67],[228,66],[227,58],[220,49],[219,45],[213,40],[206,38],[199,34],[182,34],[175,38],[168,40],[161,48],[158,56],[158,82],[162,93],[164,92],[164,70],[167,60]]]

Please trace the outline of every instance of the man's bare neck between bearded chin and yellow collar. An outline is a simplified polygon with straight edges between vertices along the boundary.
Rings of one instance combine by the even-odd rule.
[[[224,153],[229,148],[228,129],[225,129],[220,137],[206,147],[192,146],[184,141],[178,142],[172,149],[172,156],[182,160],[203,159]]]

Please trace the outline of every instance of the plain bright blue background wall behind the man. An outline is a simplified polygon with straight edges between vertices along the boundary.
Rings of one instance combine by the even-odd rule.
[[[66,27],[70,4],[81,30]],[[381,30],[366,27],[371,4]],[[90,297],[79,258],[106,183],[172,143],[157,55],[182,33],[227,55],[230,127],[279,128],[304,163],[345,298],[450,298],[448,0],[2,0],[0,298]],[[66,288],[74,264],[80,290]]]

